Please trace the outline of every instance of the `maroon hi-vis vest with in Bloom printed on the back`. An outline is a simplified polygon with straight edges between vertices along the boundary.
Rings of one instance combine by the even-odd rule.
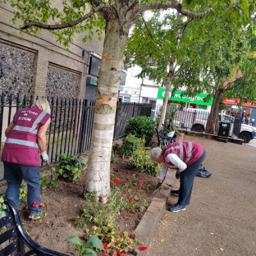
[[[29,166],[40,166],[37,143],[38,129],[51,115],[37,106],[18,110],[13,116],[15,126],[7,136],[1,160]]]

